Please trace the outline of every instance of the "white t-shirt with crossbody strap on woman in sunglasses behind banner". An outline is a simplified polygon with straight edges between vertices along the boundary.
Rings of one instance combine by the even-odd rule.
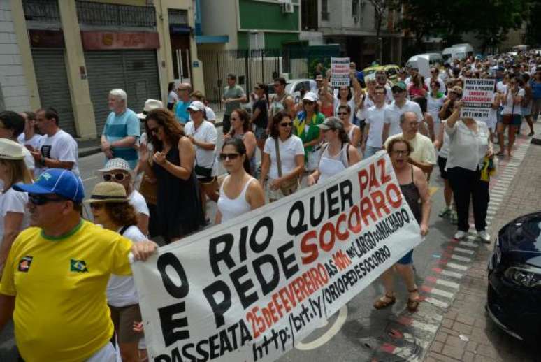
[[[280,164],[282,164],[282,176],[291,173],[296,168],[295,157],[304,155],[303,141],[292,134],[285,142],[278,137],[280,146]],[[263,152],[271,157],[271,169],[268,171],[268,177],[273,180],[278,178],[278,164],[276,161],[276,145],[272,137],[267,138]]]

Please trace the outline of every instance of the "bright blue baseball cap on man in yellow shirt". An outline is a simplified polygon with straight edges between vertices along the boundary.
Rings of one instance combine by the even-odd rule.
[[[13,189],[29,194],[56,194],[74,203],[80,203],[85,198],[81,179],[65,168],[49,168],[39,175],[34,184],[14,184]]]

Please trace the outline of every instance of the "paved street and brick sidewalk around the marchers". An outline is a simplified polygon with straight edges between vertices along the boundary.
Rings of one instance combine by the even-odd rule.
[[[541,131],[541,124],[536,126]],[[514,159],[503,159],[491,182],[492,236],[510,219],[541,208],[541,147],[529,140],[519,138]],[[102,154],[80,159],[87,194],[99,182],[94,170],[102,164]],[[374,310],[373,301],[383,293],[382,284],[375,282],[280,361],[535,361],[538,354],[532,348],[501,332],[484,312],[486,260],[493,245],[481,245],[473,236],[451,240],[456,227],[438,217],[443,196],[436,170],[431,194],[430,233],[414,253],[417,284],[425,298],[419,311],[405,311],[407,291],[400,280],[397,303]],[[208,203],[208,210],[213,219],[215,203]],[[16,361],[11,333],[6,328],[0,336],[0,361]]]

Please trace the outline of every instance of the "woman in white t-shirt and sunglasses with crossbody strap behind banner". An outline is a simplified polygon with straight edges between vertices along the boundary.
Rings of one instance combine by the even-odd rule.
[[[277,113],[273,117],[271,137],[265,141],[259,182],[261,187],[267,183],[270,202],[293,194],[304,169],[303,141],[291,132],[292,126],[287,113]]]

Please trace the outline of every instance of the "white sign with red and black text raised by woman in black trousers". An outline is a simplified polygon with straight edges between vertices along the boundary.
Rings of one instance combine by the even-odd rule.
[[[494,96],[493,79],[466,78],[462,92],[461,118],[488,120]]]

